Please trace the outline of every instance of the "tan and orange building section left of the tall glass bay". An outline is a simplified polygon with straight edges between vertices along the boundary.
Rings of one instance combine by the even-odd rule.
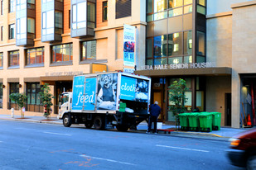
[[[123,24],[136,26],[137,55],[145,54],[145,0],[7,0],[0,5],[1,114],[16,108],[11,93],[25,92],[25,115],[42,116],[39,92],[48,83],[56,116],[58,95],[72,90],[74,75],[123,70]]]

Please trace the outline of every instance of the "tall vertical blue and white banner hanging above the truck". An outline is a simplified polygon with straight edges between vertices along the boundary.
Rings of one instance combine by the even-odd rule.
[[[123,66],[135,65],[135,26],[123,25]]]

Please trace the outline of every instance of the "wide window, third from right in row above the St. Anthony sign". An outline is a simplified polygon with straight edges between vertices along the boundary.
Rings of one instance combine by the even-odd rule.
[[[36,48],[27,50],[27,65],[44,63],[44,48]]]

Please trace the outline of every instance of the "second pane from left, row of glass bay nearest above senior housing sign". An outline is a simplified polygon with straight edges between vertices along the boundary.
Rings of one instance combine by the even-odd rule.
[[[167,35],[154,37],[154,58],[167,56]]]

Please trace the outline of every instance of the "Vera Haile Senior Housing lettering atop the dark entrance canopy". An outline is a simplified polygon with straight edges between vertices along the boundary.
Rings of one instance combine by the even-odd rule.
[[[191,64],[161,64],[161,65],[143,65],[142,70],[157,69],[186,69],[186,68],[215,68],[215,63],[191,63]]]

